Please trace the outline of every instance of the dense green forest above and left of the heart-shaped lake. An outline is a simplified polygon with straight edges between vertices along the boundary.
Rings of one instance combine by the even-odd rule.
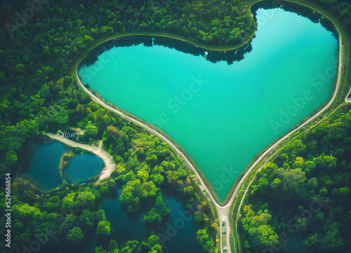
[[[86,130],[79,137],[81,142],[92,144],[103,139],[117,163],[117,172],[99,185],[62,186],[50,192],[15,179],[14,252],[37,240],[36,235],[45,233],[48,226],[56,232],[43,245],[46,249],[60,248],[58,242],[65,241],[79,247],[95,235],[103,245],[98,252],[162,252],[153,232],[145,242],[117,246],[111,239],[106,246],[112,231],[99,203],[116,188],[121,189],[118,197],[126,212],[140,214],[146,210],[143,222],[155,232],[158,224],[169,219],[161,190],[171,189],[194,213],[197,238],[204,251],[216,252],[216,218],[183,161],[157,137],[91,102],[77,88],[70,67],[95,40],[115,32],[158,31],[194,36],[200,43],[237,43],[244,39],[244,32],[253,32],[252,27],[245,29],[244,20],[249,20],[249,15],[244,6],[234,1],[227,9],[220,1],[172,1],[164,6],[142,1],[29,3],[1,6],[1,177],[9,171],[16,175],[18,152],[27,139],[69,126]],[[227,16],[233,10],[237,14]],[[216,20],[208,20],[211,16]],[[69,211],[77,206],[78,212]],[[61,209],[62,214],[58,212]]]

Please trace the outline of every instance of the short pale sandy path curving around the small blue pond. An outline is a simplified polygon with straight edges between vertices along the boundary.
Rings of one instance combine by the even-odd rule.
[[[60,142],[63,142],[67,144],[68,146],[74,146],[80,149],[85,149],[88,151],[91,151],[95,153],[96,156],[99,156],[105,163],[105,167],[103,168],[102,172],[100,173],[100,179],[104,179],[106,177],[110,177],[111,173],[116,170],[116,164],[114,163],[113,157],[110,156],[109,153],[104,151],[102,149],[102,142],[99,143],[99,146],[90,146],[87,144],[81,144],[79,142],[74,142],[70,139],[66,139],[62,135],[53,135],[51,133],[44,133],[44,135],[47,135],[48,137],[51,137],[52,139],[57,139]]]

